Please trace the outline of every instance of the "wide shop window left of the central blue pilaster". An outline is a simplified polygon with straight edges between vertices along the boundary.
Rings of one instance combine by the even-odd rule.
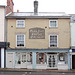
[[[15,54],[15,64],[22,64],[22,63],[28,63],[32,64],[32,53],[26,53],[26,52],[16,52]]]

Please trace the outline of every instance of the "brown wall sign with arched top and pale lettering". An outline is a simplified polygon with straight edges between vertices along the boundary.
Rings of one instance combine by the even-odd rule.
[[[29,29],[29,39],[45,39],[45,29],[43,28]]]

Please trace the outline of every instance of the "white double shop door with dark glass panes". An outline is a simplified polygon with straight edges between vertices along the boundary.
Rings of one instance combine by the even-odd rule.
[[[49,68],[57,68],[57,55],[56,54],[49,54],[47,62],[48,62]]]

